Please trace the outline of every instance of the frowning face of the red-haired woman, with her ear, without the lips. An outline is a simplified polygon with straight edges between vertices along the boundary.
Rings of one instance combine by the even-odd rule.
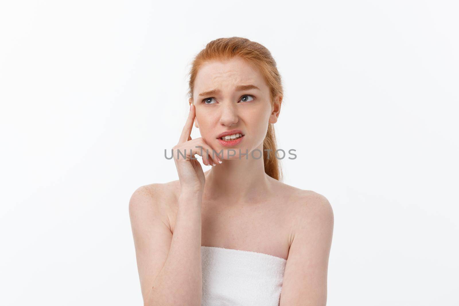
[[[238,159],[239,149],[243,154],[248,152],[251,158],[250,152],[262,144],[268,123],[277,121],[281,98],[276,97],[271,106],[269,87],[263,75],[240,57],[235,57],[226,62],[207,62],[200,68],[190,103],[193,101],[195,126],[202,138],[217,153],[223,150],[224,159]],[[230,130],[240,130],[244,136],[238,144],[225,146],[218,135]],[[229,151],[234,156],[229,157]],[[253,155],[258,157],[259,153]]]

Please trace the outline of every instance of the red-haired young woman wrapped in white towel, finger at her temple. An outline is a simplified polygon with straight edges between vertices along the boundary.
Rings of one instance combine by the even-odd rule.
[[[129,202],[144,305],[325,305],[333,211],[323,195],[280,182],[283,91],[269,50],[213,40],[189,85],[172,150],[179,179],[141,186]]]

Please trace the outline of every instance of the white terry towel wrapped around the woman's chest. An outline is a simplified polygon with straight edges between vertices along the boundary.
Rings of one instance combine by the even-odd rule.
[[[284,258],[201,246],[202,306],[279,306]]]

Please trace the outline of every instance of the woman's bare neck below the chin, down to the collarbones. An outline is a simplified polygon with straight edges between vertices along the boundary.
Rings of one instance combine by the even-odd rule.
[[[263,152],[263,143],[257,147]],[[255,157],[259,152],[254,152]],[[269,192],[270,179],[264,172],[263,156],[223,160],[223,163],[205,172],[206,184],[203,198],[225,205],[237,205],[262,200]]]

